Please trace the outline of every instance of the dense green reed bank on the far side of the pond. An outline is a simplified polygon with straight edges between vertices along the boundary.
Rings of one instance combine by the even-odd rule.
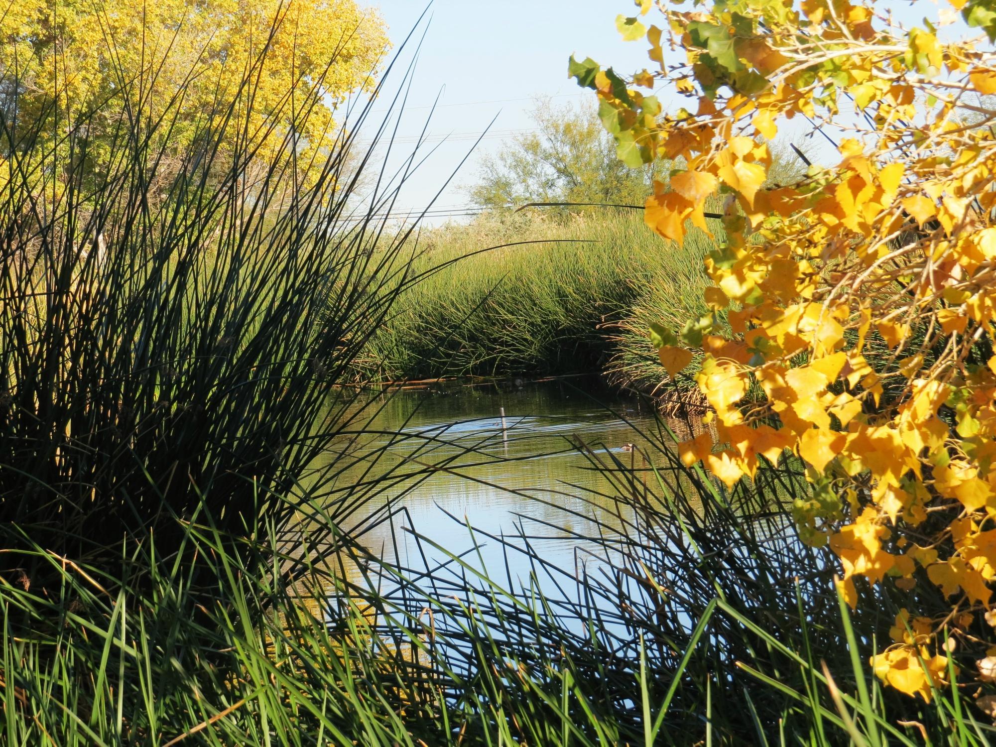
[[[646,322],[700,313],[711,246],[696,231],[670,248],[619,210],[423,232],[416,267],[463,258],[398,297],[355,367],[386,379],[606,370],[643,383],[656,360]]]

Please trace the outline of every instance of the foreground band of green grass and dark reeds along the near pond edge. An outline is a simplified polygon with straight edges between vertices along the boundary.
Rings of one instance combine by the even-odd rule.
[[[829,551],[787,523],[781,503],[803,486],[791,464],[730,494],[672,457],[663,428],[645,435],[643,474],[576,444],[610,477],[592,500],[621,520],[575,537],[594,553],[580,573],[531,544],[538,529],[567,530],[510,537],[458,517],[472,547],[496,543],[531,573],[482,571],[417,534],[408,555],[422,560],[403,566],[349,543],[315,559],[275,525],[226,537],[206,514],[179,550],[124,540],[114,566],[32,545],[59,583],[0,586],[3,739],[989,743],[970,688],[924,703],[879,686],[867,656],[903,600],[878,585],[862,612],[842,604]],[[334,524],[325,505],[305,502],[312,526]],[[294,583],[286,564],[302,572]]]

